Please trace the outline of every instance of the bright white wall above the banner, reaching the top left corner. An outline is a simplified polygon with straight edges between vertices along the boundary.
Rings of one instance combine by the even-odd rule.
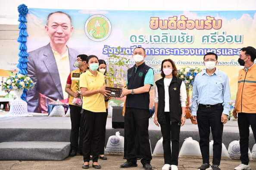
[[[17,25],[17,7],[51,9],[214,11],[256,10],[256,0],[0,0],[0,24]]]

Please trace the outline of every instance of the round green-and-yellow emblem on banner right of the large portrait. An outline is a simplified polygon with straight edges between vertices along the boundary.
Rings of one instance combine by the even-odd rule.
[[[93,41],[106,40],[111,33],[111,24],[104,15],[92,15],[84,25],[84,31],[88,38]]]

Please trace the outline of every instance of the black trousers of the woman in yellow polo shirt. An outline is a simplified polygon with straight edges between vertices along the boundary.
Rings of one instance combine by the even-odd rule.
[[[92,112],[83,109],[83,157],[84,162],[90,161],[90,153],[93,162],[97,162],[100,155],[100,139],[103,133],[104,116],[106,112]]]

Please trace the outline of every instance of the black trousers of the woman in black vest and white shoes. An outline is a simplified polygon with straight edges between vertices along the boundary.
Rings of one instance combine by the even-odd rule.
[[[171,123],[169,112],[165,112],[165,121],[165,124],[160,124],[165,164],[178,166],[181,124],[179,122]]]

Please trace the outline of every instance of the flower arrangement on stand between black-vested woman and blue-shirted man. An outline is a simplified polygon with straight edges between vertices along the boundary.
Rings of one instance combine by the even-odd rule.
[[[195,68],[184,67],[184,68],[181,68],[178,71],[178,74],[177,74],[177,77],[181,78],[184,81],[185,85],[186,85],[186,91],[187,91],[186,117],[187,118],[191,117],[191,112],[190,112],[190,109],[189,109],[189,105],[190,105],[189,90],[192,90],[195,77],[200,72],[201,72],[201,69],[197,68],[197,67],[195,67]],[[191,119],[191,122],[193,124],[197,124],[192,119]]]

